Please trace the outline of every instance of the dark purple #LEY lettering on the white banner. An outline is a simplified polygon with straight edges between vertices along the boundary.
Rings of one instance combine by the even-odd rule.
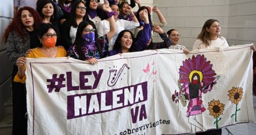
[[[60,88],[66,87],[63,82],[66,81],[67,84],[67,91],[73,91],[73,90],[91,90],[95,89],[98,86],[98,83],[100,82],[101,75],[103,70],[97,71],[83,71],[79,72],[79,86],[72,86],[72,72],[66,72],[66,78],[65,74],[60,74],[58,78],[58,74],[53,74],[52,79],[47,79],[47,82],[50,84],[47,85],[48,93],[52,92],[55,88],[55,92],[59,92]],[[89,77],[93,75],[94,76],[94,83],[93,85],[87,84],[89,81]],[[77,78],[75,78],[77,79]]]

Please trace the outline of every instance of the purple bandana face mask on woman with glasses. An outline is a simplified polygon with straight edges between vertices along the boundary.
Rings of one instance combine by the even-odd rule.
[[[94,32],[83,34],[83,45],[85,45],[87,48],[91,49],[91,51],[94,51],[95,49],[97,49],[97,47],[95,47],[95,33]]]

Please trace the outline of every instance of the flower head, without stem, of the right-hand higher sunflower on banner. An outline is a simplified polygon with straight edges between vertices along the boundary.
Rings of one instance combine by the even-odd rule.
[[[229,100],[231,101],[231,103],[235,103],[237,105],[243,98],[243,88],[232,87],[232,89],[228,92],[230,93],[228,94],[228,96],[230,97]]]

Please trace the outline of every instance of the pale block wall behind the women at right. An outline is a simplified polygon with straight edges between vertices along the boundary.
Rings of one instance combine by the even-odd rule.
[[[221,36],[230,45],[256,45],[256,0],[154,0],[165,16],[163,30],[177,29],[179,44],[192,49],[204,22],[210,18],[220,21]],[[158,21],[156,14],[153,20]],[[154,41],[162,41],[154,33]]]

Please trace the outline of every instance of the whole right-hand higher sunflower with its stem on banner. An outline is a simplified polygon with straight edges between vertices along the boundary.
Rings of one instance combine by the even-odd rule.
[[[233,116],[235,116],[235,122],[236,122],[236,115],[238,114],[238,111],[240,109],[238,109],[238,103],[242,100],[243,98],[243,88],[241,87],[232,87],[231,90],[228,91],[230,94],[228,94],[228,96],[230,97],[230,101],[231,103],[235,104],[235,114],[231,115],[231,118]]]

